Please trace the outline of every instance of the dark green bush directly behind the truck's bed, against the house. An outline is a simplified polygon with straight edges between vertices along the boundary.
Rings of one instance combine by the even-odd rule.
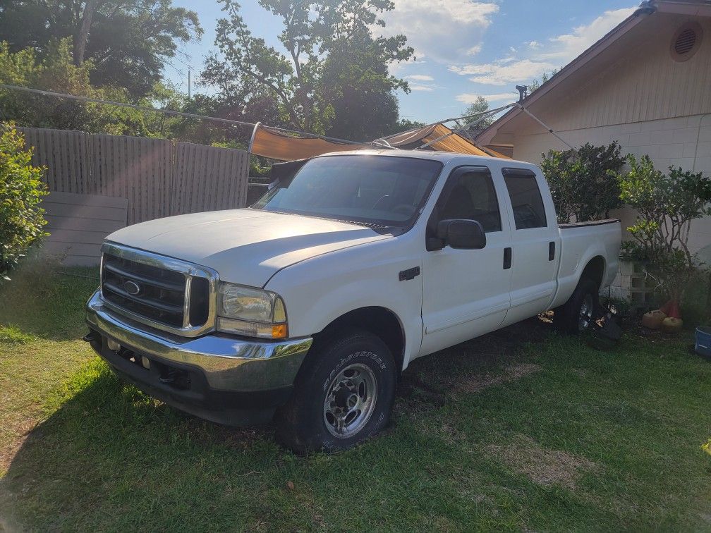
[[[558,222],[609,217],[610,210],[621,207],[617,180],[625,159],[620,152],[619,144],[613,142],[541,154],[540,166],[550,186]]]

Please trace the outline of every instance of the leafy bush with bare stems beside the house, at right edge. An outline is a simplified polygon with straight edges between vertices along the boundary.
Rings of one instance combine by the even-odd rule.
[[[669,167],[657,171],[651,159],[628,156],[629,171],[619,180],[620,198],[637,217],[627,228],[633,239],[623,244],[626,259],[641,262],[658,289],[675,301],[701,266],[689,250],[691,222],[711,215],[704,191],[710,185],[702,173]]]

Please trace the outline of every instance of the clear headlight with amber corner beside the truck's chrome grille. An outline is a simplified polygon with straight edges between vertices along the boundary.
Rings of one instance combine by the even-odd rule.
[[[278,294],[233,283],[220,283],[218,330],[250,337],[287,337],[287,310]]]

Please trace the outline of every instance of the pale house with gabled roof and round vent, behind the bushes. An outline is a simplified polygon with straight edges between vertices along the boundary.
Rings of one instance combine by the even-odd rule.
[[[572,146],[618,141],[623,152],[711,176],[711,0],[651,0],[543,83],[523,102]],[[567,146],[519,108],[477,144],[539,163]],[[623,226],[634,214],[615,214]],[[690,247],[711,263],[711,218],[696,220]]]

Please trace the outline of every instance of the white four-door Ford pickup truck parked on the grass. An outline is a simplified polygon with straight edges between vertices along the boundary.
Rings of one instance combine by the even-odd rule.
[[[548,309],[583,330],[618,268],[619,221],[557,225],[530,163],[299,166],[252,208],[107,237],[85,339],[119,376],[212,421],[273,418],[296,451],[348,448],[388,424],[410,361]]]

